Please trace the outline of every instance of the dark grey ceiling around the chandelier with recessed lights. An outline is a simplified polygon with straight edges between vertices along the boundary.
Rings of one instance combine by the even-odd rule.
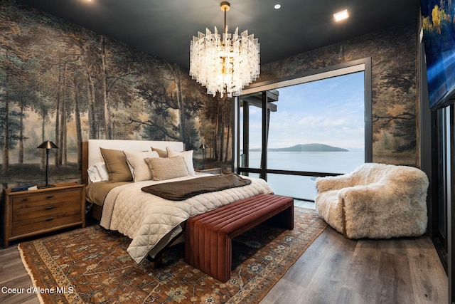
[[[54,16],[188,68],[189,45],[205,28],[223,31],[219,0],[20,0]],[[274,9],[274,4],[282,4]],[[231,0],[235,27],[259,38],[261,64],[382,28],[416,23],[419,0]],[[333,13],[348,9],[336,23]]]

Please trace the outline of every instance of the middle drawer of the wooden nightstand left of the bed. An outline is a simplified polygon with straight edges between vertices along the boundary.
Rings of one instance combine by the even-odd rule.
[[[42,216],[53,216],[55,214],[63,214],[70,211],[80,213],[80,201],[64,201],[63,203],[54,202],[53,204],[37,204],[37,206],[17,208],[13,209],[13,224],[16,221],[36,219]]]

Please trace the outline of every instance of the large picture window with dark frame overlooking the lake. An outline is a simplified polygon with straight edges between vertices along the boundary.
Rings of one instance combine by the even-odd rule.
[[[237,98],[237,166],[313,201],[316,177],[371,161],[370,61],[258,85]]]

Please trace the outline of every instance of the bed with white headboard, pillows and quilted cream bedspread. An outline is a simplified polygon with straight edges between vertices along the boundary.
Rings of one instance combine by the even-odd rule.
[[[124,159],[132,175],[126,179]],[[230,176],[236,179],[233,184],[239,183],[236,187],[195,192],[177,199],[172,195],[171,199],[161,197],[166,189],[174,192],[173,189],[191,188],[194,183],[213,184],[214,175],[196,172],[192,159],[193,151],[185,151],[183,142],[89,140],[82,143],[82,182],[87,184],[87,203],[92,206],[92,214],[100,220],[100,226],[132,239],[127,251],[137,263],[147,257],[158,261],[165,248],[179,242],[189,217],[257,194],[272,194],[263,179]],[[122,170],[118,169],[119,162]],[[98,170],[105,172],[101,174]],[[222,175],[220,179],[228,176]],[[159,194],[156,189],[160,190]]]

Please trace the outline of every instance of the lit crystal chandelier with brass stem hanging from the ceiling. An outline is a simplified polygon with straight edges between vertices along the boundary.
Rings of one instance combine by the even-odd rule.
[[[238,28],[232,35],[226,26],[226,11],[230,4],[223,1],[221,10],[225,12],[225,32],[223,39],[215,26],[215,33],[206,28],[205,35],[198,32],[190,45],[190,75],[207,88],[208,94],[220,92],[228,97],[241,95],[242,88],[259,76],[259,43],[248,31],[238,35]]]

